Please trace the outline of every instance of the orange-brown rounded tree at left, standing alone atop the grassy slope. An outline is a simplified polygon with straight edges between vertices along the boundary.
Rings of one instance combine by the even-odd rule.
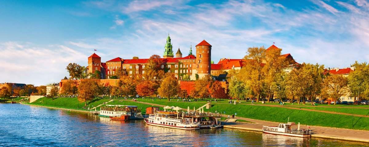
[[[98,83],[95,79],[82,80],[78,86],[78,100],[84,101],[85,106],[87,101],[91,101],[95,98],[98,91]]]

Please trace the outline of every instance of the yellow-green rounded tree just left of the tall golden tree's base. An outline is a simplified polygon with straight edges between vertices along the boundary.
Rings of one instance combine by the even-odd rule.
[[[251,89],[246,83],[238,80],[237,78],[232,78],[229,83],[229,95],[233,98],[246,98],[251,95]]]

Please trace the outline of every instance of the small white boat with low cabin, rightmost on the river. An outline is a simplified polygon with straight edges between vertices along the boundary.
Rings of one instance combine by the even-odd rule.
[[[263,133],[269,133],[274,135],[286,135],[294,137],[311,137],[311,130],[300,129],[300,123],[298,128],[292,128],[296,125],[294,122],[279,123],[278,126],[263,126]]]

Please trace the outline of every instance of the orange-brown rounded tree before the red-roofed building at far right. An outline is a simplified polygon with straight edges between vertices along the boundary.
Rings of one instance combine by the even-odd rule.
[[[339,97],[344,96],[348,90],[348,78],[343,76],[328,76],[324,79],[323,91],[328,94],[329,97],[334,98],[336,101]],[[334,103],[336,104],[336,103]]]

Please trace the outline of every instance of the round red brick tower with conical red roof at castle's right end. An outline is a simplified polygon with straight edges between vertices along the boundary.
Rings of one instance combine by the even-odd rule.
[[[211,45],[205,40],[196,45],[196,62],[194,64],[191,79],[195,79],[195,74],[199,78],[209,75],[211,71]]]

